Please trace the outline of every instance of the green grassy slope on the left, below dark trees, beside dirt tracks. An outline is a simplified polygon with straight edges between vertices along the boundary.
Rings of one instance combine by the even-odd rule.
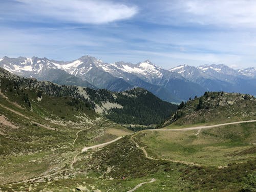
[[[4,90],[3,81],[1,86]],[[0,95],[0,115],[18,127],[12,129],[0,122],[2,184],[67,167],[83,146],[110,141],[118,137],[119,132],[123,135],[130,133],[99,117],[82,102],[68,104],[73,101],[70,97],[42,95],[41,101],[38,101],[35,90],[24,92],[29,95],[31,108],[14,89],[6,90],[5,96],[3,93]],[[49,127],[51,130],[47,129]],[[85,131],[87,134],[79,135],[73,148],[76,133],[89,127]]]

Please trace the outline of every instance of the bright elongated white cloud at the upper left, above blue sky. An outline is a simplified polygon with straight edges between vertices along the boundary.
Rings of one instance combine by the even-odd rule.
[[[104,24],[128,19],[138,12],[136,6],[127,6],[101,0],[16,0],[18,8],[27,16],[44,16],[62,22]],[[19,10],[19,11],[20,11]]]

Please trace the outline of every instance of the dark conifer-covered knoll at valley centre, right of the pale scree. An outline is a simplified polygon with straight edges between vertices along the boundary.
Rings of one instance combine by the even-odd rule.
[[[141,88],[118,93],[116,101],[123,108],[111,109],[106,117],[117,123],[159,124],[177,109],[177,105],[162,101]]]

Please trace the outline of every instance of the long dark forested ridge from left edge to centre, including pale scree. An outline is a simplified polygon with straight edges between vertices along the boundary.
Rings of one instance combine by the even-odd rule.
[[[31,100],[54,96],[71,97],[67,104],[73,110],[93,110],[115,122],[122,124],[159,124],[177,108],[176,105],[162,101],[152,93],[135,88],[125,92],[110,92],[105,89],[94,90],[77,86],[58,85],[49,81],[23,78],[0,68],[1,90],[13,97],[20,105],[31,110]],[[59,106],[56,105],[56,109]],[[62,115],[66,118],[67,115]]]

